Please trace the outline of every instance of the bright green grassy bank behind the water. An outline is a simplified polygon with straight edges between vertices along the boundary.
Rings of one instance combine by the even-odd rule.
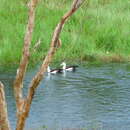
[[[27,0],[0,0],[0,64],[17,64],[21,56],[27,23]],[[67,0],[41,0],[36,12],[31,61],[43,59],[53,29],[69,9]],[[129,0],[88,0],[64,26],[62,48],[54,61],[129,61]],[[32,63],[31,62],[31,63]]]

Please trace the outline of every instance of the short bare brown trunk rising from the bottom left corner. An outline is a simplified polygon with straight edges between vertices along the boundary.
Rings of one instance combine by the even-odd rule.
[[[0,130],[10,130],[4,85],[0,82]]]

